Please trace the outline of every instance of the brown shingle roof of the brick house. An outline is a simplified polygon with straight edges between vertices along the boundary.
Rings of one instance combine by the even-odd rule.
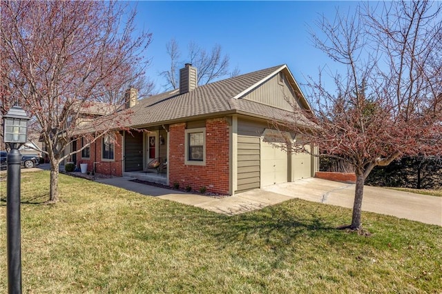
[[[289,112],[246,99],[235,99],[241,92],[265,81],[276,74],[285,65],[273,66],[245,75],[238,75],[222,81],[198,86],[190,92],[180,95],[179,90],[164,92],[142,99],[137,105],[123,110],[130,111],[128,127],[140,127],[154,124],[166,124],[170,121],[189,119],[216,113],[238,112],[256,117],[284,119]]]

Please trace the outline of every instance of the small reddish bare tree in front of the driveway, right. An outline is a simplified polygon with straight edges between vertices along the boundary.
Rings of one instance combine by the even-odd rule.
[[[352,229],[361,228],[364,183],[375,166],[442,149],[440,4],[369,4],[354,16],[337,13],[333,22],[318,21],[323,35],[312,33],[316,46],[347,71],[333,77],[336,92],[324,86],[321,72],[318,81],[310,79],[314,113],[294,107],[292,122],[279,124],[323,156],[354,166]],[[302,128],[300,112],[316,128]]]

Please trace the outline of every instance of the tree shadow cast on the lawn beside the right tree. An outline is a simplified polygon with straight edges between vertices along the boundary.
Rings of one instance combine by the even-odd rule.
[[[321,239],[322,242],[362,242],[357,234],[340,230],[349,212],[325,211],[300,200],[289,205],[267,206],[262,210],[231,217],[198,219],[201,228],[208,228],[220,244],[265,244],[270,248],[298,244],[305,239]],[[354,235],[350,237],[351,235]]]

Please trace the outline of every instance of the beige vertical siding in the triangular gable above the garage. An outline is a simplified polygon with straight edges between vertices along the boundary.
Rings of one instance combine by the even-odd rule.
[[[287,99],[290,99],[290,101],[296,101],[295,105],[299,107],[300,104],[298,99],[295,98],[295,92],[289,85],[286,77],[284,76],[282,83],[279,79],[280,77],[278,73],[278,75],[275,75],[266,81],[265,84],[262,84],[252,92],[249,92],[241,99],[256,101],[260,104],[291,111],[293,110],[293,106],[287,101]]]

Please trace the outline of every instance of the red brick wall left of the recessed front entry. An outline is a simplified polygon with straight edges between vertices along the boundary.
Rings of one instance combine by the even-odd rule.
[[[119,133],[115,133],[115,144],[114,144],[114,160],[113,161],[103,161],[102,160],[102,139],[97,139],[95,143],[90,145],[90,157],[89,159],[84,159],[81,157],[81,152],[77,155],[78,166],[79,164],[88,164],[88,171],[93,170],[93,163],[95,162],[95,173],[101,173],[105,175],[115,175],[117,177],[122,177],[122,148],[123,148],[123,137]],[[78,146],[81,148],[81,146]]]

